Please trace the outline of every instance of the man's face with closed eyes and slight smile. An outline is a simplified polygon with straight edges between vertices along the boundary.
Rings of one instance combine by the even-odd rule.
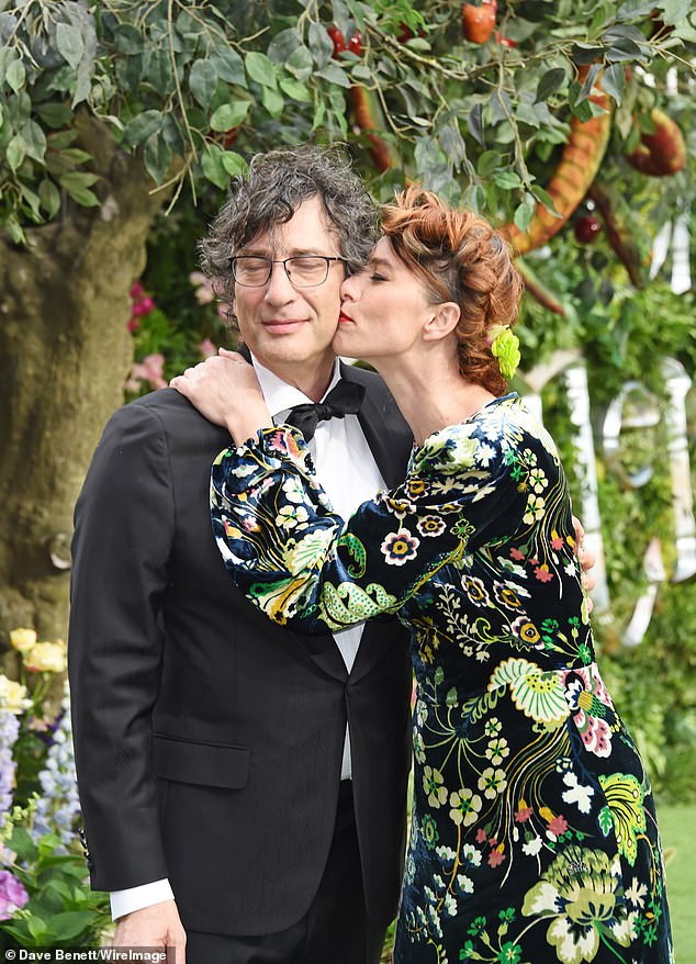
[[[296,255],[337,257],[338,240],[328,228],[318,198],[301,204],[285,224],[252,238],[238,255],[291,258]],[[328,372],[332,340],[338,324],[340,261],[329,262],[328,277],[314,288],[294,288],[282,265],[273,265],[262,288],[235,284],[235,314],[245,343],[261,365],[280,378],[298,381],[302,369]]]

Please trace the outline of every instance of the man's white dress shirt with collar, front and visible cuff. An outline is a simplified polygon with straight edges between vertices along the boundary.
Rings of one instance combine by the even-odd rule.
[[[251,356],[251,360],[263,397],[277,425],[283,422],[288,411],[294,405],[303,405],[313,401],[300,389],[289,385],[272,371],[263,368],[254,356]],[[340,381],[340,370],[338,359],[336,359],[334,374],[321,401],[326,397],[338,381]],[[373,498],[380,489],[385,487],[357,415],[346,415],[344,418],[319,422],[308,447],[314,459],[317,479],[330,498],[334,509],[343,518],[348,518],[361,503]],[[363,624],[359,624],[334,634],[334,639],[348,672],[352,669],[360,646],[362,627]],[[351,776],[350,737],[347,727],[340,776],[341,780],[349,780]],[[111,913],[114,920],[153,904],[173,899],[173,893],[167,879],[153,881],[150,884],[128,887],[125,890],[114,890],[110,896]]]

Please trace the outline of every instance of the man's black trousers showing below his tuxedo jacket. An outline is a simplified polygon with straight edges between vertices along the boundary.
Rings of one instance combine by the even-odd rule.
[[[187,964],[379,964],[384,933],[367,917],[352,784],[343,781],[326,870],[302,920],[263,937],[189,931],[186,957]]]

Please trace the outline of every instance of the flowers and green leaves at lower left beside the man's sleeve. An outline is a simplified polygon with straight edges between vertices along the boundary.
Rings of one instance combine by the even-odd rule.
[[[0,673],[0,949],[99,945],[105,896],[90,892],[79,848],[79,802],[60,639],[10,634],[19,679]]]

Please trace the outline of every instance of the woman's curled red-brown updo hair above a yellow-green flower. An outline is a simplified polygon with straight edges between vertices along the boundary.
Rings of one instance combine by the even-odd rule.
[[[506,242],[483,217],[448,208],[415,184],[384,205],[382,229],[434,304],[459,305],[454,333],[461,374],[494,395],[504,394],[506,381],[489,333],[493,325],[515,324],[523,293]]]

